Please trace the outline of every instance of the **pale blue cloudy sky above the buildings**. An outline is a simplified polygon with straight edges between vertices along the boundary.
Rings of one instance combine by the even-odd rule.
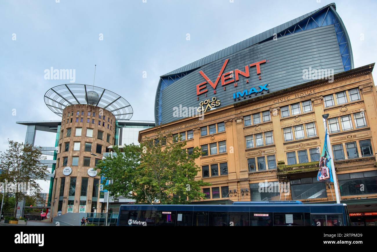
[[[75,83],[123,96],[131,120],[154,121],[159,76],[283,24],[333,1],[325,0],[1,0],[0,151],[24,142],[16,121],[60,120],[44,104],[48,89],[70,80],[46,69],[75,70]],[[377,1],[338,0],[354,67],[376,61]],[[189,38],[189,39],[188,39]],[[54,146],[38,132],[35,145]],[[40,181],[44,192],[49,182]]]

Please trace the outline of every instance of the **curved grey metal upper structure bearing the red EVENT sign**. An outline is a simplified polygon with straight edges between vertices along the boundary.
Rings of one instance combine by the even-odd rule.
[[[276,92],[311,81],[303,78],[305,69],[329,69],[334,74],[353,69],[349,37],[335,8],[335,4],[324,6],[162,75],[156,92],[156,125],[181,119],[173,116],[173,108],[179,105],[198,107],[200,101],[216,97],[221,101],[219,107],[223,107],[239,101],[233,98],[233,93],[252,87],[258,90],[268,84],[268,92]],[[262,62],[260,73],[256,65],[245,68],[256,62]],[[238,81],[223,86],[234,79],[235,69],[249,70],[250,76],[241,74]],[[221,81],[222,73],[225,79]],[[226,80],[227,76],[230,78]],[[198,84],[201,84],[199,90]],[[206,89],[207,92],[201,93]]]

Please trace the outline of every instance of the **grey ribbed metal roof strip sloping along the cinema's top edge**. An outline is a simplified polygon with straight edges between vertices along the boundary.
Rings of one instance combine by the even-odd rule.
[[[174,75],[174,74],[177,74],[177,73],[186,72],[186,71],[190,71],[190,70],[195,69],[195,68],[199,68],[199,67],[204,66],[206,64],[209,64],[209,63],[211,63],[213,61],[216,61],[216,60],[219,60],[221,58],[227,57],[228,55],[233,54],[235,52],[238,52],[240,50],[243,50],[243,49],[245,49],[247,47],[253,46],[254,44],[261,43],[262,41],[264,41],[264,40],[272,37],[274,33],[282,32],[285,29],[288,29],[289,27],[294,26],[297,23],[300,23],[300,21],[304,20],[305,18],[313,16],[317,12],[320,12],[323,9],[328,8],[330,6],[333,7],[333,11],[334,11],[335,15],[337,16],[337,18],[339,18],[339,21],[342,24],[342,28],[345,29],[342,20],[340,19],[339,15],[336,12],[336,5],[335,5],[335,3],[330,3],[330,4],[328,4],[326,6],[323,6],[322,8],[319,8],[319,9],[317,9],[315,11],[311,11],[311,12],[309,12],[309,13],[307,13],[305,15],[302,15],[302,16],[300,16],[298,18],[294,18],[293,20],[290,20],[290,21],[288,21],[288,22],[286,22],[284,24],[280,24],[280,25],[278,25],[276,27],[273,27],[273,28],[271,28],[271,29],[269,29],[267,31],[261,32],[260,34],[254,35],[253,37],[247,38],[245,40],[242,40],[241,42],[238,42],[238,43],[233,44],[231,46],[228,46],[228,47],[226,47],[226,48],[224,48],[222,50],[219,50],[218,52],[212,53],[212,54],[210,54],[210,55],[208,55],[206,57],[203,57],[203,58],[201,58],[199,60],[196,60],[196,61],[194,61],[192,63],[189,63],[189,64],[187,64],[185,66],[179,67],[178,69],[173,70],[173,71],[171,71],[169,73],[166,73],[164,75],[161,75],[160,77]],[[347,34],[347,39],[349,40],[348,34]],[[242,46],[242,43],[245,43],[245,45]],[[236,49],[237,47],[239,48],[239,50]],[[227,54],[221,53],[221,52],[223,52],[225,50],[229,51],[229,53],[227,53]],[[352,50],[351,50],[351,52],[352,52]],[[216,55],[216,53],[217,53],[217,55]],[[216,57],[213,57],[214,55]],[[210,60],[211,57],[213,57],[212,60]],[[189,66],[190,66],[190,68],[189,68]],[[352,68],[353,68],[353,60],[352,60]]]

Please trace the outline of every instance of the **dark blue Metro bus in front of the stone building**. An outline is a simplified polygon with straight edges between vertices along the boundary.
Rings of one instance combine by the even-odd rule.
[[[346,204],[121,205],[117,226],[349,226]]]

